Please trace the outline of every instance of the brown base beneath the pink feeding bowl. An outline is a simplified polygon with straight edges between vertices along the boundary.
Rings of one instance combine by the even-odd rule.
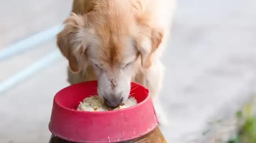
[[[69,142],[67,140],[60,139],[55,135],[52,135],[49,143],[75,143],[75,142]],[[120,143],[167,143],[167,142],[163,137],[159,127],[156,127],[153,131],[151,131],[147,135],[141,136],[140,138],[137,138],[137,139],[128,140]]]

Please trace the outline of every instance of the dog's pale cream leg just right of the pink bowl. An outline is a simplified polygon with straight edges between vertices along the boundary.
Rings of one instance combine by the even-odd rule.
[[[154,107],[157,112],[160,125],[167,126],[168,119],[165,112],[162,110],[162,105],[159,100],[160,90],[162,88],[162,79],[164,74],[164,66],[161,61],[156,60],[152,66],[146,70],[145,86],[150,91],[150,95],[153,98]]]

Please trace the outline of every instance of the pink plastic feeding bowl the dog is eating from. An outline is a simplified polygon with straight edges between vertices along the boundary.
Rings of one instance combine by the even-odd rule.
[[[49,130],[61,139],[78,143],[116,143],[143,136],[158,125],[147,88],[131,84],[139,104],[126,109],[87,112],[76,108],[84,98],[97,95],[97,82],[74,84],[54,97]]]

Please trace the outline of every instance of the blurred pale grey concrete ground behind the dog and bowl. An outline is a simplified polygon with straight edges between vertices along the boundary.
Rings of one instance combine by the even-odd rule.
[[[71,3],[0,0],[0,49],[61,23]],[[201,138],[209,120],[222,118],[220,110],[248,97],[256,80],[255,5],[254,0],[178,0],[163,57],[161,101],[170,126],[162,131],[168,143]],[[0,82],[54,49],[53,39],[0,61]],[[66,66],[62,58],[0,95],[0,143],[48,142],[53,96],[68,86]]]

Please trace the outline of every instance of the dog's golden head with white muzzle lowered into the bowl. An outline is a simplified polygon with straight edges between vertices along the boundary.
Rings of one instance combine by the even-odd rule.
[[[141,24],[129,5],[120,5],[106,4],[84,15],[72,13],[57,35],[71,71],[93,65],[98,94],[110,107],[127,100],[135,61],[149,68],[162,38],[156,29]]]

